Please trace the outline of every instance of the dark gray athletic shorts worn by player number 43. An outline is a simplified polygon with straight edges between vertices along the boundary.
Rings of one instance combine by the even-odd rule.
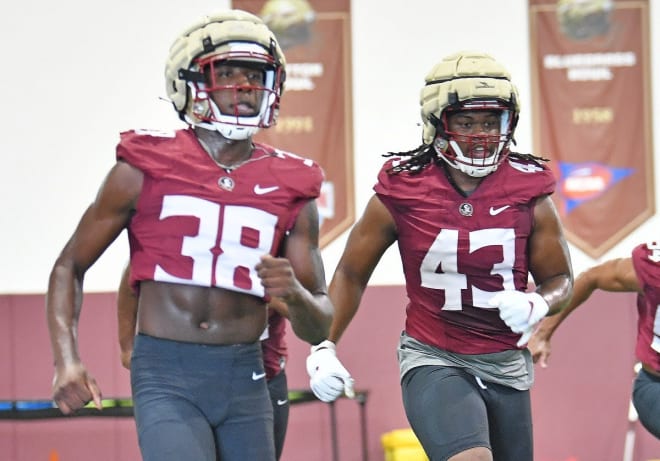
[[[494,461],[532,461],[528,390],[482,381],[462,368],[425,365],[401,381],[410,425],[431,461],[487,447]]]

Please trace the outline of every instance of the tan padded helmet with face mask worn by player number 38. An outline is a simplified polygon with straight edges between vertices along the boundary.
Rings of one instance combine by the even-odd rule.
[[[242,140],[277,121],[285,66],[260,18],[228,10],[203,18],[174,42],[166,89],[186,123]]]

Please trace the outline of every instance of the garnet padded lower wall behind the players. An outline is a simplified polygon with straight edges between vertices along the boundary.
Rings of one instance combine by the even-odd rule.
[[[396,344],[403,328],[401,286],[370,287],[338,346],[339,356],[366,404],[368,458],[384,458],[380,436],[407,427],[401,404]],[[114,293],[87,294],[80,326],[81,354],[104,395],[128,396],[128,372],[119,363]],[[620,461],[628,429],[636,328],[634,296],[595,293],[557,332],[550,367],[536,368],[532,391],[536,461]],[[307,388],[309,346],[289,333],[291,388]],[[43,295],[0,296],[0,399],[48,398],[52,380]],[[336,404],[339,459],[359,461],[359,405]],[[660,458],[660,441],[639,424],[633,461]],[[0,421],[0,459],[8,461],[139,460],[128,418]],[[283,461],[331,461],[329,407],[291,409]]]

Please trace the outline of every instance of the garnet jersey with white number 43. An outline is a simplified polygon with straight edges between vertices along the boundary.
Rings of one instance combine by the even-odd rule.
[[[515,349],[520,335],[488,300],[528,286],[527,245],[536,199],[554,192],[549,169],[509,158],[464,197],[442,167],[387,170],[374,190],[394,218],[409,303],[406,332],[462,354]]]

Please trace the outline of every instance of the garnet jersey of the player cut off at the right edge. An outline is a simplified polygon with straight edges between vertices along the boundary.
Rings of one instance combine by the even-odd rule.
[[[637,297],[637,358],[660,372],[660,242],[644,243],[632,252],[633,266],[644,291]]]

